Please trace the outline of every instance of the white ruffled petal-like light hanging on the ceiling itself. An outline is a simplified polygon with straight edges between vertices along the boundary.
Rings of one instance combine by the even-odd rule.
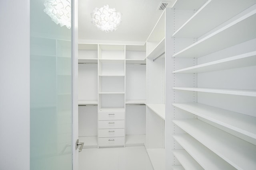
[[[108,5],[95,8],[91,13],[92,23],[98,29],[109,32],[118,29],[118,25],[121,23],[120,12],[117,12],[115,8],[109,8]]]

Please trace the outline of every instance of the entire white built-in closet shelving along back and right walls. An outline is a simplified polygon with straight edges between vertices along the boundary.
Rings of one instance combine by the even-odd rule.
[[[154,170],[256,169],[256,0],[177,0],[145,45],[79,43],[78,91],[84,148],[145,146]]]

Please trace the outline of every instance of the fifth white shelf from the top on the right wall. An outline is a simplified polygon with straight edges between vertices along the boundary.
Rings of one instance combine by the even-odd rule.
[[[172,105],[256,139],[256,117],[199,103]]]

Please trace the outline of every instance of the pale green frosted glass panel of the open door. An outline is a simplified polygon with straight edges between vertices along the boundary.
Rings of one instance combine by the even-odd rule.
[[[44,2],[30,0],[30,170],[72,170],[72,28]]]

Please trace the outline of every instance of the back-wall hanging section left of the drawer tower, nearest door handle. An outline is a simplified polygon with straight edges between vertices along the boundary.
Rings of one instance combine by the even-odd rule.
[[[78,136],[84,148],[98,147],[98,45],[78,44]]]

